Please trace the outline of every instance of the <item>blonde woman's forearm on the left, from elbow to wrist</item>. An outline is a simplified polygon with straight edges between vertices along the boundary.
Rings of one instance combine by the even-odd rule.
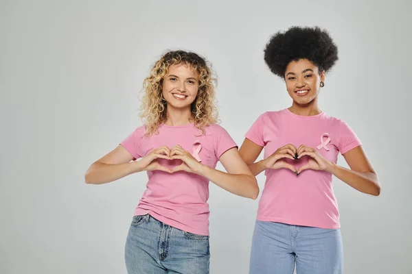
[[[93,163],[84,175],[86,184],[106,184],[127,175],[143,171],[139,161],[125,164]]]

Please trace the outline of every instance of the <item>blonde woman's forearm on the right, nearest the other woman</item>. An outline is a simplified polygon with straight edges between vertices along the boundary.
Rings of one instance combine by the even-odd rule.
[[[251,199],[258,198],[259,186],[254,176],[247,174],[229,174],[211,169],[205,165],[202,165],[197,173],[235,195]]]

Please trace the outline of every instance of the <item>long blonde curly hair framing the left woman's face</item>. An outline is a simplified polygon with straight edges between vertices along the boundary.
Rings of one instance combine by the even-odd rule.
[[[168,51],[155,63],[150,75],[144,79],[140,117],[146,125],[146,136],[151,136],[167,117],[167,103],[163,99],[163,77],[172,64],[185,63],[199,73],[199,88],[196,99],[190,106],[194,126],[205,133],[205,127],[218,123],[218,110],[215,105],[216,78],[207,61],[193,52]]]

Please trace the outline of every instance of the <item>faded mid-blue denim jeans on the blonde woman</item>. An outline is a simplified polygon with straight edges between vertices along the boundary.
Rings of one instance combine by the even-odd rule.
[[[209,236],[184,232],[149,214],[134,216],[125,260],[128,274],[208,274]]]

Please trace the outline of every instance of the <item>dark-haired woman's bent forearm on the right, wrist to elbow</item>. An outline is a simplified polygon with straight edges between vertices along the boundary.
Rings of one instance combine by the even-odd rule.
[[[375,173],[352,171],[334,163],[330,165],[327,171],[358,191],[374,196],[380,194],[380,184]]]

